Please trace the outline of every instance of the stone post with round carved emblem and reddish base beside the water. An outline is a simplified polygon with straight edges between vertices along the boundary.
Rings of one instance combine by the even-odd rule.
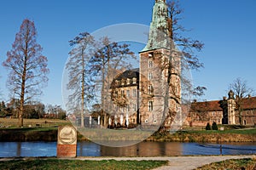
[[[57,157],[77,156],[77,129],[73,126],[58,128]]]

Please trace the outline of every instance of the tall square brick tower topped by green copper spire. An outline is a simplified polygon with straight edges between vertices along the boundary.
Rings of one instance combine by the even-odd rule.
[[[155,0],[148,43],[140,52],[140,120],[145,126],[171,127],[180,110],[181,64],[168,19],[166,0]]]

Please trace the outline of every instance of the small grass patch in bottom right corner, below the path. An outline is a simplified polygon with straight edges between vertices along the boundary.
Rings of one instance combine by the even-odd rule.
[[[199,167],[196,170],[224,170],[224,169],[256,169],[256,159],[241,159],[241,160],[228,160],[219,161],[216,163],[211,163],[210,165],[205,165]]]

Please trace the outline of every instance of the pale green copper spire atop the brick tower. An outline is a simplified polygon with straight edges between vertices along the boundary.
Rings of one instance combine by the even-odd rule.
[[[153,17],[150,24],[148,44],[143,51],[168,48],[168,8],[166,0],[155,0]],[[143,52],[142,51],[142,52]]]

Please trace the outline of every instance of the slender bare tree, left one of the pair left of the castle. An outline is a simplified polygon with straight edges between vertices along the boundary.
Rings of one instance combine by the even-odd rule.
[[[73,49],[69,52],[70,58],[66,65],[69,77],[67,89],[72,90],[73,93],[69,95],[68,101],[70,105],[78,105],[81,111],[81,127],[84,127],[84,99],[93,98],[91,91],[94,87],[90,86],[90,77],[85,76],[85,67],[90,59],[94,38],[88,32],[83,32],[69,43]],[[73,106],[71,108],[74,109]]]

